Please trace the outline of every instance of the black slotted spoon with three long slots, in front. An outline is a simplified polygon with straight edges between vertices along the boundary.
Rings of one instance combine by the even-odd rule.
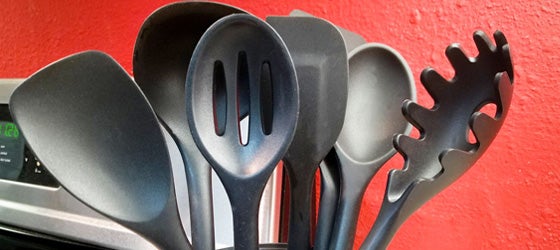
[[[235,249],[258,249],[260,197],[298,118],[298,85],[288,49],[260,19],[224,17],[193,53],[186,98],[193,138],[232,206]],[[246,142],[240,136],[239,103],[249,104]]]

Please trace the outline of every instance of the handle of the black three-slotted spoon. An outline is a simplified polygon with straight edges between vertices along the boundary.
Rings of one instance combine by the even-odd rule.
[[[235,184],[234,184],[235,185]],[[259,203],[263,187],[248,187],[241,183],[228,188],[233,213],[233,243],[236,250],[259,249]],[[254,189],[260,188],[259,192]]]

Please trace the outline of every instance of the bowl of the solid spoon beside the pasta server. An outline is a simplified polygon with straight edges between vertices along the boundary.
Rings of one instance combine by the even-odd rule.
[[[351,98],[336,149],[356,162],[373,163],[396,153],[395,133],[412,129],[401,112],[402,102],[415,95],[412,73],[398,52],[382,44],[356,48],[348,64]]]

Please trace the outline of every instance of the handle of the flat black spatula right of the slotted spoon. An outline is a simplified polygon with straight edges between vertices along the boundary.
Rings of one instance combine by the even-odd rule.
[[[301,164],[297,162],[295,164]],[[306,163],[303,163],[306,164]],[[315,180],[315,171],[305,173],[294,173],[292,163],[284,160],[290,179],[290,222],[288,227],[288,248],[289,249],[311,249],[311,193]],[[296,174],[299,174],[296,180]],[[301,176],[301,175],[304,176]]]

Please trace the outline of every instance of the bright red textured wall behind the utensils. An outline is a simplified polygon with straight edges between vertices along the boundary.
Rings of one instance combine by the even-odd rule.
[[[1,0],[0,77],[27,77],[71,53],[103,50],[132,71],[142,21],[169,1]],[[502,131],[486,155],[454,185],[414,214],[391,249],[560,248],[559,1],[487,0],[225,0],[260,17],[299,8],[388,44],[418,79],[433,66],[452,76],[445,47],[460,42],[475,55],[475,29],[502,30],[515,65],[515,93]],[[131,72],[132,73],[132,72]],[[419,81],[418,81],[419,82]],[[418,85],[419,102],[432,101]],[[362,207],[362,241],[382,199],[386,171],[374,179]]]

